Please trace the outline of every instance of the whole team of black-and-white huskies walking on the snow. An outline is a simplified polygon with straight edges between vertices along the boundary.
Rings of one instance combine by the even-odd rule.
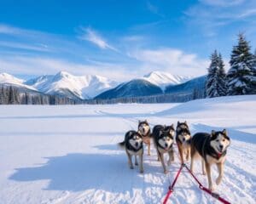
[[[164,155],[168,155],[167,165],[170,166],[174,161],[175,144],[181,163],[190,159],[192,173],[195,159],[201,159],[202,174],[207,174],[209,190],[213,190],[211,167],[212,164],[216,164],[218,167],[216,184],[220,184],[224,175],[227,148],[230,146],[230,137],[225,129],[223,131],[212,130],[212,133],[195,133],[192,137],[187,122],[177,122],[176,130],[174,124],[171,126],[156,125],[151,132],[147,120],[139,121],[137,131],[128,131],[125,133],[125,140],[119,143],[119,146],[126,152],[131,169],[134,168],[132,162],[132,156],[134,156],[134,164],[139,165],[140,173],[143,173],[143,143],[148,145],[148,156],[150,156],[151,139],[153,139],[157,152],[157,160],[161,162],[164,173],[168,173]]]

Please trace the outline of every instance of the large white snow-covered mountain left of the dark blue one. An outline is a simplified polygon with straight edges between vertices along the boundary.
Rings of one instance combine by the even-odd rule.
[[[45,75],[25,82],[44,94],[59,94],[75,99],[91,99],[116,86],[116,82],[101,76],[73,76],[61,71],[55,76]]]

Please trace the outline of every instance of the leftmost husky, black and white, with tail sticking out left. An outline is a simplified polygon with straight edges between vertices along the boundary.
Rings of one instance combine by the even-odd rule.
[[[128,165],[133,169],[132,156],[135,157],[135,165],[137,163],[137,156],[140,159],[140,173],[143,173],[143,138],[134,130],[130,130],[125,133],[125,140],[119,143],[122,149],[125,149],[126,155],[128,156]]]

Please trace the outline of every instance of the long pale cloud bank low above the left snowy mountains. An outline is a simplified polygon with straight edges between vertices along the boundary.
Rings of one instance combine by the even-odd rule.
[[[114,70],[114,71],[113,71]],[[47,57],[1,57],[0,72],[13,75],[54,75],[59,71],[68,71],[74,75],[99,75],[117,82],[129,80],[137,76],[137,71],[130,71],[121,64],[94,62],[91,64],[74,63],[65,59]]]

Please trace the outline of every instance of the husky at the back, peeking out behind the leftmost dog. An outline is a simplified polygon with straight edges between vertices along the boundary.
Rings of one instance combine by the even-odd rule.
[[[143,143],[148,144],[148,156],[150,156],[151,133],[148,121],[139,121],[137,129],[137,132],[143,136]]]

